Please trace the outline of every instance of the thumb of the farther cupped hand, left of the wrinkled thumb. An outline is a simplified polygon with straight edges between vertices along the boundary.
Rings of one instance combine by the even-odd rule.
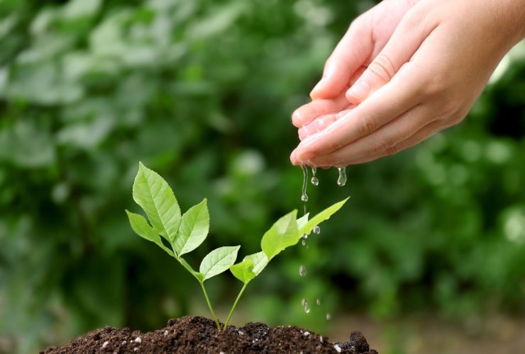
[[[372,53],[374,44],[370,33],[369,21],[363,18],[350,25],[326,60],[323,77],[310,93],[313,100],[330,98],[347,89],[352,76]]]

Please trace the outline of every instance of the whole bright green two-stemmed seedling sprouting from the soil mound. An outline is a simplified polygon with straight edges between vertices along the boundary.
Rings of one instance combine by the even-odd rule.
[[[133,231],[138,236],[157,244],[179,261],[197,279],[204,292],[211,316],[213,316],[215,324],[220,330],[221,324],[215,316],[204,282],[228,269],[233,276],[243,282],[243,287],[233,302],[226,322],[224,322],[222,329],[226,329],[233,310],[235,310],[248,283],[259,275],[277,254],[287,247],[297,244],[303,235],[310,234],[316,225],[329,219],[348,198],[326,208],[311,219],[308,218],[308,214],[297,219],[297,210],[289,212],[278,219],[262,236],[260,242],[262,251],[245,256],[242,262],[234,264],[241,246],[219,247],[204,257],[198,272],[187,261],[184,261],[182,256],[197,249],[208,236],[209,212],[206,198],[189,208],[184,215],[181,215],[179,204],[170,186],[155,171],[148,169],[139,162],[138,173],[135,183],[133,183],[133,200],[143,208],[149,219],[148,223],[142,215],[126,210]],[[166,244],[170,245],[171,249]]]

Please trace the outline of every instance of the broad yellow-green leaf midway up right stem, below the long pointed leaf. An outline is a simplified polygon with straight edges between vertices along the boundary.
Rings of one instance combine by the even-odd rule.
[[[269,260],[299,241],[296,215],[297,210],[284,215],[262,236],[260,246]]]

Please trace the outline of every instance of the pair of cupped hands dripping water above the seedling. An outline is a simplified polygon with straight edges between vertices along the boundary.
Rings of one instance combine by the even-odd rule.
[[[302,139],[292,164],[360,164],[463,120],[523,38],[524,8],[524,0],[385,0],[360,16],[328,59],[314,101],[292,116]]]

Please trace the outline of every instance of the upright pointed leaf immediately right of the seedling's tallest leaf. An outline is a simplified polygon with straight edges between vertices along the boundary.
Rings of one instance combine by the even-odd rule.
[[[179,233],[173,248],[179,256],[197,249],[209,230],[209,212],[206,205],[206,198],[199,204],[191,207],[182,215],[182,221],[179,226]]]

